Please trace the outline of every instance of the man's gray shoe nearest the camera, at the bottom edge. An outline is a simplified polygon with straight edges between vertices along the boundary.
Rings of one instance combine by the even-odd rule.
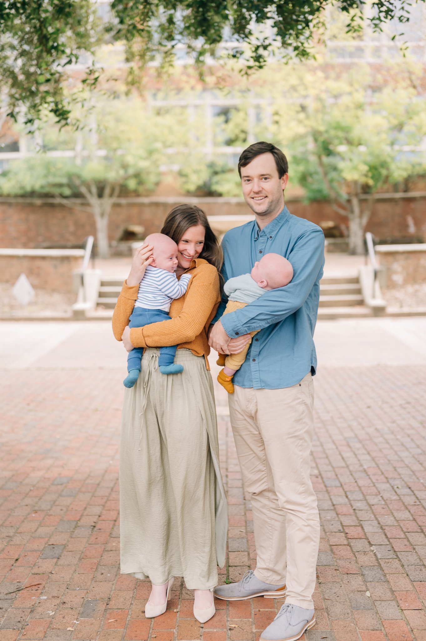
[[[315,610],[285,603],[275,619],[260,635],[260,641],[296,641],[315,626]]]

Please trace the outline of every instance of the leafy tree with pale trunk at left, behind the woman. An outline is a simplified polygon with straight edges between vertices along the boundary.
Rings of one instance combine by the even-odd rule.
[[[99,99],[97,100],[96,97]],[[90,128],[74,132],[74,158],[58,158],[41,151],[11,162],[0,174],[4,196],[53,196],[70,208],[93,215],[99,256],[108,256],[108,219],[122,193],[147,194],[159,182],[164,131],[173,136],[180,121],[172,115],[157,117],[142,101],[110,99],[93,94]],[[48,127],[48,146],[64,135]],[[43,130],[40,147],[44,147]],[[67,131],[68,137],[69,131]],[[79,199],[75,199],[78,196]],[[83,203],[82,201],[83,197]]]

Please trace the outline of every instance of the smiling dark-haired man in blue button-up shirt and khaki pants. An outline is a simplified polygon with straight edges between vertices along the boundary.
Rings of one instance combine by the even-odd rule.
[[[233,377],[230,420],[244,487],[251,495],[256,569],[239,583],[217,587],[219,599],[286,594],[285,604],[261,641],[294,641],[315,624],[312,594],[319,547],[317,497],[310,481],[313,381],[317,358],[313,330],[324,267],[324,235],[288,212],[283,190],[288,163],[280,149],[256,142],[239,159],[242,193],[255,221],[223,238],[223,277],[251,271],[265,253],[292,264],[292,281],[222,316],[210,332],[216,351],[241,351],[243,335],[260,329]],[[287,584],[287,592],[286,590]]]

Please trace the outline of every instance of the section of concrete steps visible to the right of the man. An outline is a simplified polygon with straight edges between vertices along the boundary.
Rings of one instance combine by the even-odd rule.
[[[365,306],[357,274],[327,275],[320,281],[319,319],[372,316]]]

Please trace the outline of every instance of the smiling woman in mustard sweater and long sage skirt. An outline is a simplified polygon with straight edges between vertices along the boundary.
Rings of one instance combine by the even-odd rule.
[[[171,303],[171,320],[129,329],[129,316],[152,249],[134,256],[113,315],[127,351],[145,347],[141,376],[125,390],[120,442],[121,571],[150,578],[145,615],[166,611],[174,576],[194,590],[194,616],[215,612],[217,565],[225,563],[227,510],[219,470],[216,410],[207,329],[219,304],[221,249],[205,213],[179,205],[161,233],[178,246],[178,278],[186,293]],[[181,374],[163,376],[159,347],[178,345]]]

